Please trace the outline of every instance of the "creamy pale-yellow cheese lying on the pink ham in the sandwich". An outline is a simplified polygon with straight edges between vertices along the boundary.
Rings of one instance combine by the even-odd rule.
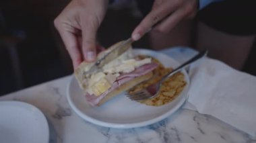
[[[135,60],[133,57],[131,49],[127,50],[115,60],[105,64],[102,71],[96,71],[96,73],[90,75],[86,80],[88,81],[86,84],[88,93],[96,96],[101,95],[113,85],[121,73],[130,73],[135,68],[151,62],[151,58]]]

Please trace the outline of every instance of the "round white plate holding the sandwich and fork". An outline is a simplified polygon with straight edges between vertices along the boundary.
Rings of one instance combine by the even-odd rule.
[[[160,52],[145,49],[135,49],[133,51],[135,54],[154,56],[166,67],[175,68],[179,66],[177,61]],[[124,93],[114,97],[100,107],[91,107],[86,102],[85,96],[83,95],[82,90],[79,89],[79,85],[74,76],[71,78],[67,87],[67,100],[77,115],[84,120],[100,126],[110,128],[135,128],[147,126],[168,117],[177,111],[177,109],[179,109],[185,102],[189,86],[189,77],[185,70],[182,70],[182,72],[187,81],[185,89],[179,97],[174,99],[174,101],[160,107],[148,106],[138,103],[137,101],[131,101],[124,95]]]

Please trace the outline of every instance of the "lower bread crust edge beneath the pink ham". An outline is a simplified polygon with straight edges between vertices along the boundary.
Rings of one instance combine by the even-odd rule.
[[[132,87],[134,87],[135,85],[138,85],[139,83],[141,83],[143,81],[147,81],[151,77],[153,77],[152,72],[150,72],[146,75],[142,75],[140,77],[136,77],[135,79],[132,79],[131,81],[128,81],[127,83],[124,83],[120,87],[117,87],[117,89],[108,93],[103,99],[100,100],[100,102],[97,105],[100,106],[103,103],[106,103],[106,101],[108,101],[109,99],[112,99],[113,97],[119,95],[123,91],[127,91],[128,89],[131,89]]]

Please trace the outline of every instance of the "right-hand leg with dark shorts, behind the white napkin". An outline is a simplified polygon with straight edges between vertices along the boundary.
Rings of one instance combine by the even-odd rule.
[[[255,1],[212,3],[197,15],[195,48],[241,70],[255,40]]]

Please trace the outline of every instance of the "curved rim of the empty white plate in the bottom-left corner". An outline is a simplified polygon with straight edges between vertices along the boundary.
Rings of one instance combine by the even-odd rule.
[[[42,111],[40,111],[40,109],[38,109],[38,107],[30,104],[30,103],[26,103],[24,101],[0,101],[0,106],[2,105],[8,105],[8,106],[18,106],[18,107],[23,107],[24,109],[26,109],[26,111],[28,111],[28,109],[32,109],[32,111],[30,112],[36,112],[38,115],[40,115],[40,117],[38,117],[38,119],[41,121],[40,125],[44,124],[43,126],[45,127],[45,143],[48,143],[50,140],[50,131],[49,131],[49,124],[48,121],[46,120],[46,116],[44,115],[44,113],[42,113]]]

